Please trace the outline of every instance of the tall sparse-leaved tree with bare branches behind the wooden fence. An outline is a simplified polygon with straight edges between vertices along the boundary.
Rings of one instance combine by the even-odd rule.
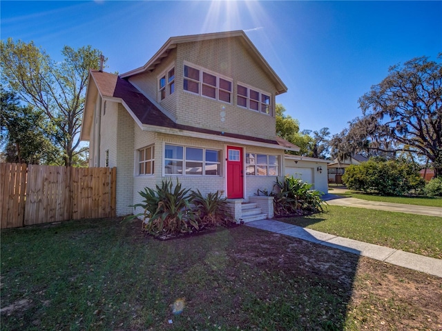
[[[100,51],[91,46],[74,50],[64,46],[64,61],[57,63],[35,44],[0,43],[2,80],[23,101],[43,110],[55,129],[53,141],[63,151],[65,165],[72,165],[79,148],[79,130],[84,110],[84,94],[90,69],[99,67]]]

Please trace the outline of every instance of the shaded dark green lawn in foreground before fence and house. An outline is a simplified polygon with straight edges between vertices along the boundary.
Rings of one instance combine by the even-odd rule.
[[[30,303],[1,314],[1,329],[340,330],[345,323],[348,299],[337,282],[242,256],[249,254],[242,237],[264,242],[267,232],[243,226],[159,241],[132,228],[97,220],[2,232],[2,308]],[[184,312],[172,314],[183,297]]]

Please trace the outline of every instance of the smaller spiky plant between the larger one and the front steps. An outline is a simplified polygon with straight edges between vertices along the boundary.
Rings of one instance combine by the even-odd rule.
[[[192,191],[191,197],[201,227],[229,225],[234,222],[227,205],[227,198],[222,198],[219,191],[208,193],[204,197],[200,190],[196,190]]]

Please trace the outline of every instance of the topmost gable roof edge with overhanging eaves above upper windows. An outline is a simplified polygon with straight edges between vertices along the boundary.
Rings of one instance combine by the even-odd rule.
[[[211,39],[221,39],[221,38],[232,38],[232,37],[239,37],[240,41],[242,42],[242,45],[249,50],[249,54],[253,59],[258,61],[258,63],[261,63],[262,69],[267,72],[271,80],[276,86],[276,94],[281,94],[284,92],[287,92],[287,86],[285,86],[284,83],[282,83],[281,79],[278,77],[276,72],[273,71],[271,66],[269,66],[269,63],[262,57],[261,53],[258,51],[258,49],[253,45],[253,43],[250,41],[249,37],[245,34],[242,30],[236,30],[236,31],[228,31],[228,32],[215,32],[215,33],[205,33],[205,34],[191,34],[188,36],[181,36],[181,37],[171,37],[164,43],[162,48],[158,50],[153,57],[147,61],[147,63],[140,67],[136,68],[134,70],[125,72],[124,74],[121,74],[120,77],[127,78],[131,77],[134,74],[141,74],[142,72],[151,72],[155,69],[155,66],[161,63],[162,59],[167,57],[169,55],[169,52],[177,47],[177,44],[180,43],[191,43],[195,41],[205,41],[205,40],[211,40]]]

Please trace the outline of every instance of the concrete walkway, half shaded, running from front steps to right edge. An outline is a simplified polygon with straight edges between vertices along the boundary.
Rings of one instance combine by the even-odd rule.
[[[418,270],[437,277],[442,277],[442,260],[433,259],[432,257],[423,257],[418,254],[395,250],[394,248],[387,248],[372,243],[363,243],[362,241],[338,237],[334,234],[310,230],[297,225],[276,221],[274,219],[252,221],[245,223],[245,225],[312,241],[332,248],[338,248],[345,252],[358,254],[363,257],[370,257],[379,261],[399,265],[403,268]]]

